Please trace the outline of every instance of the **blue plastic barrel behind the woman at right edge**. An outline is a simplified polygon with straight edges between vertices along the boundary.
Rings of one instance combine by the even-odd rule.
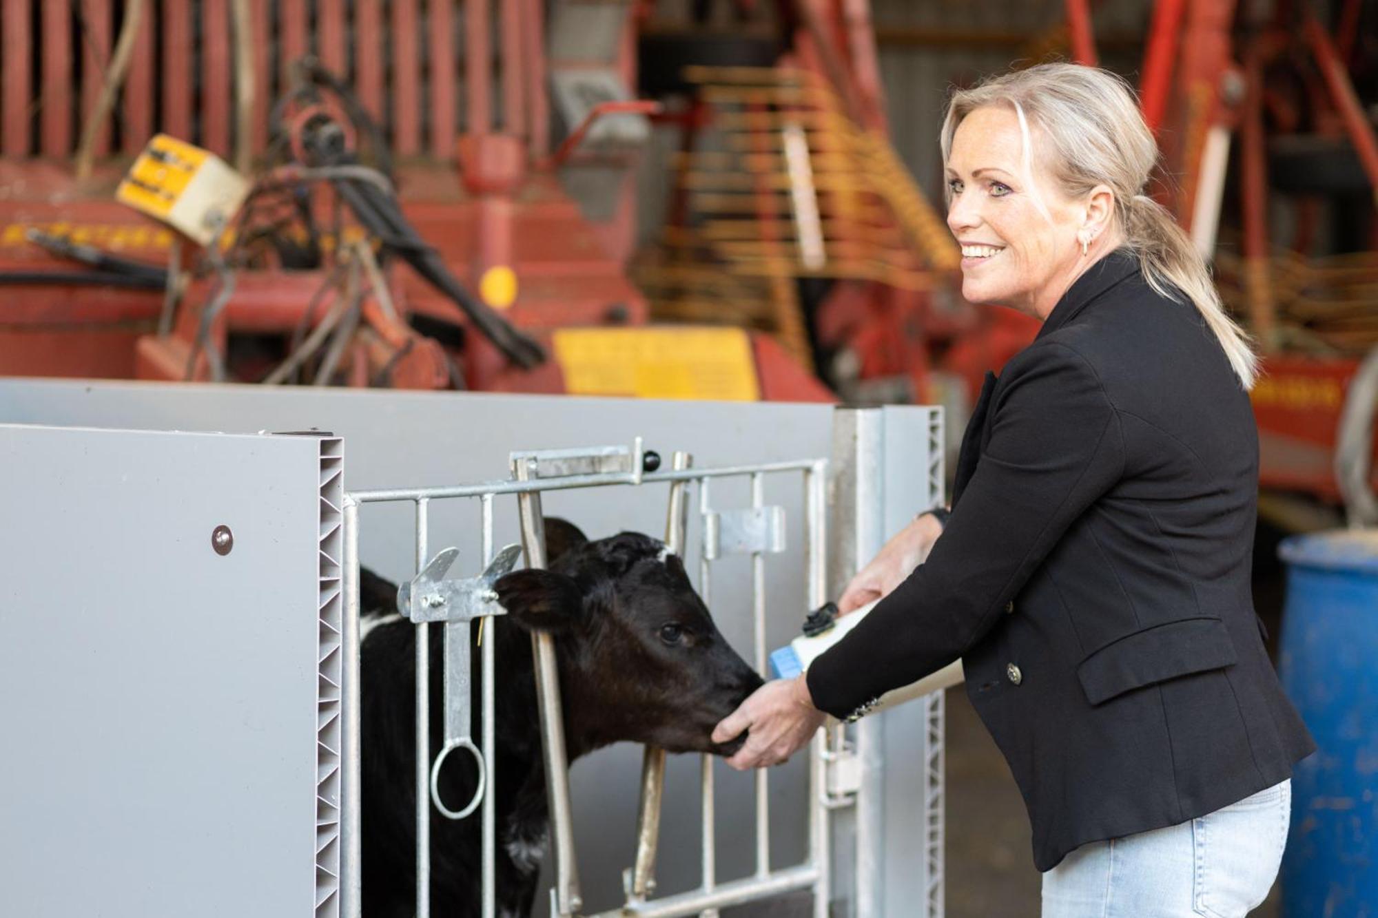
[[[1283,688],[1317,751],[1293,775],[1287,918],[1378,917],[1378,531],[1286,539]]]

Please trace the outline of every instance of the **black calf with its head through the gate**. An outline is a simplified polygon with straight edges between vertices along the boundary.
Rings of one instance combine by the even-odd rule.
[[[728,646],[664,543],[634,532],[590,542],[573,525],[546,520],[550,567],[502,578],[507,615],[496,640],[497,910],[531,912],[548,815],[529,633],[555,637],[569,759],[619,740],[674,753],[732,754],[714,725],[761,685]],[[412,918],[416,904],[415,626],[397,615],[397,586],[361,572],[362,884],[365,918]],[[440,626],[431,649],[431,757],[440,753]],[[477,626],[475,626],[477,627]],[[481,729],[475,667],[474,733]],[[474,791],[467,757],[446,759],[441,798],[463,806]],[[431,813],[431,903],[435,914],[478,915],[480,817]]]

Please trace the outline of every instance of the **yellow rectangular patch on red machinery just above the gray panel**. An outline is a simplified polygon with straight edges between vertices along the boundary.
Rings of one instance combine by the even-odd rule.
[[[740,328],[564,328],[554,345],[572,396],[761,398],[751,339]]]

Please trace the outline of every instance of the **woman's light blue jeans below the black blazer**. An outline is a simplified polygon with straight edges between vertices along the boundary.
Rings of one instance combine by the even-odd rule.
[[[1082,845],[1043,874],[1043,918],[1242,918],[1287,844],[1291,780],[1177,826]]]

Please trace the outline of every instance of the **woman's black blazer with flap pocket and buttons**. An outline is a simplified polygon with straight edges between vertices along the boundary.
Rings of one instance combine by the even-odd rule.
[[[846,717],[962,657],[1039,870],[1276,784],[1315,746],[1254,615],[1257,488],[1214,335],[1112,252],[987,376],[943,538],[814,660],[814,704]]]

